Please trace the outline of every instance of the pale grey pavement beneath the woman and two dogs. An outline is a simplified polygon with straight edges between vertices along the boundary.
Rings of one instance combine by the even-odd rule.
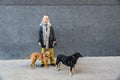
[[[29,59],[0,60],[0,80],[120,80],[120,57],[83,57],[76,64],[77,74],[69,75],[69,68],[30,68]]]

